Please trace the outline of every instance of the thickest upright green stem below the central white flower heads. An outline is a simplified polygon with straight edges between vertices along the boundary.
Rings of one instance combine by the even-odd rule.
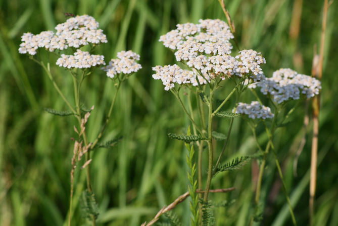
[[[209,117],[208,117],[208,147],[209,147],[209,165],[208,165],[208,178],[207,185],[204,193],[204,201],[208,200],[211,179],[212,179],[212,162],[213,162],[213,145],[212,145],[212,96],[215,90],[210,91],[210,99],[209,99]]]

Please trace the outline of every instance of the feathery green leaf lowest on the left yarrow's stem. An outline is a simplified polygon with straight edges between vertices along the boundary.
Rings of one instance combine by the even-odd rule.
[[[92,216],[97,218],[99,216],[99,206],[96,203],[94,193],[85,190],[81,195],[81,211],[82,214],[88,218],[92,219]]]

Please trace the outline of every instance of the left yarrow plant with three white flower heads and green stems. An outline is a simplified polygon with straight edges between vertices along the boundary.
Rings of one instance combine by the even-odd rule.
[[[95,218],[98,216],[98,208],[90,183],[90,151],[98,147],[111,147],[119,140],[112,139],[104,143],[99,142],[109,123],[121,83],[126,81],[131,76],[131,74],[137,72],[142,67],[136,62],[139,60],[139,55],[132,52],[131,50],[119,52],[117,54],[117,59],[112,59],[109,62],[109,65],[102,67],[102,69],[107,72],[107,77],[114,82],[116,89],[107,119],[102,125],[100,133],[92,142],[89,142],[85,131],[85,123],[87,122],[90,111],[93,110],[93,107],[90,110],[87,110],[84,107],[82,104],[83,101],[80,97],[80,89],[83,80],[93,72],[93,69],[102,65],[106,65],[103,55],[93,55],[91,52],[98,45],[107,43],[108,40],[106,35],[103,33],[103,30],[99,29],[99,23],[93,17],[88,15],[69,18],[65,23],[57,25],[55,30],[56,32],[43,31],[38,35],[33,35],[31,33],[23,34],[19,52],[30,55],[31,59],[44,68],[54,87],[68,105],[71,114],[74,115],[78,120],[80,130],[74,126],[79,138],[75,141],[74,156],[72,159],[71,198],[68,225],[71,225],[74,171],[76,169],[76,165],[81,160],[83,155],[85,155],[85,163],[82,165],[81,169],[86,169],[87,179],[87,190],[84,191],[82,195],[82,197],[84,197],[84,209],[86,209],[85,215],[88,216],[92,220],[92,224],[95,225]],[[90,51],[82,51],[81,47],[84,46],[89,46]],[[74,82],[75,106],[70,104],[68,99],[64,96],[59,86],[55,82],[50,70],[49,57],[47,57],[47,62],[43,60],[44,58],[40,57],[41,49],[47,50],[48,53],[56,54],[59,57],[56,61],[56,65],[67,69],[72,75]],[[62,51],[66,49],[71,49],[73,53],[70,55],[62,53]],[[54,109],[46,109],[46,111],[55,115],[70,115],[67,111],[57,111]]]

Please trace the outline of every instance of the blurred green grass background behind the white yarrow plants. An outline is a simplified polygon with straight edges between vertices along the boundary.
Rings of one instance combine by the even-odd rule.
[[[267,64],[266,76],[280,67],[310,74],[314,45],[319,46],[323,1],[304,2],[299,36],[290,35],[294,1],[225,1],[234,20],[242,48],[261,52]],[[338,225],[338,18],[335,1],[328,13],[322,79],[319,160],[314,225]],[[187,191],[186,150],[182,142],[168,138],[168,132],[182,133],[188,125],[178,103],[159,81],[152,79],[152,67],[173,64],[174,55],[158,42],[160,35],[178,23],[199,19],[226,20],[218,1],[203,0],[79,0],[79,1],[0,1],[0,225],[65,225],[69,208],[70,170],[76,121],[43,111],[44,107],[66,110],[41,67],[27,55],[19,54],[21,35],[38,34],[65,22],[63,13],[88,14],[107,35],[95,54],[106,62],[121,50],[140,54],[142,69],[121,88],[113,119],[103,140],[123,135],[118,146],[92,153],[91,178],[101,214],[98,225],[140,225],[157,211]],[[233,50],[236,52],[236,49]],[[56,58],[51,57],[51,61]],[[66,70],[51,65],[55,79],[68,99],[73,100],[72,78]],[[224,97],[231,87],[218,92]],[[83,85],[87,107],[95,105],[87,123],[89,140],[100,130],[113,96],[113,83],[96,70]],[[242,102],[253,100],[244,95]],[[233,103],[225,108],[231,109]],[[276,133],[278,158],[284,170],[287,189],[294,204],[298,225],[308,224],[311,129],[293,176],[293,159],[302,137],[304,105],[293,115],[292,123]],[[215,129],[225,132],[229,121],[219,120]],[[310,128],[311,128],[310,122]],[[263,128],[262,128],[263,129]],[[261,131],[262,131],[261,129]],[[264,142],[266,136],[261,135]],[[222,143],[216,144],[219,153]],[[224,162],[256,152],[245,122],[236,119]],[[207,160],[207,153],[204,157]],[[205,164],[206,165],[206,164]],[[253,212],[252,171],[255,163],[238,172],[218,175],[212,188],[235,186],[228,194],[212,194],[213,200],[236,199],[227,208],[215,209],[217,225],[247,225]],[[78,189],[84,186],[83,173],[76,172]],[[286,201],[273,159],[263,180],[266,199],[261,225],[291,225]],[[75,196],[79,192],[75,191]],[[75,197],[74,200],[77,198]],[[84,225],[74,202],[72,225]],[[188,201],[176,209],[188,225]]]

